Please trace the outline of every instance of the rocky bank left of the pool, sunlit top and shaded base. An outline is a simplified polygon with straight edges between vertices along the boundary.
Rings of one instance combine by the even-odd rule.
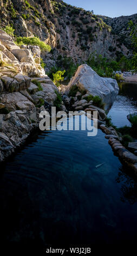
[[[0,49],[0,161],[3,161],[38,126],[40,111],[53,106],[58,89],[40,66],[39,47],[21,49],[0,30]]]

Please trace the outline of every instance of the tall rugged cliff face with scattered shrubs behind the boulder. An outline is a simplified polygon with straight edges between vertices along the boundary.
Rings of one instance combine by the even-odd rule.
[[[61,0],[0,0],[1,28],[11,25],[17,36],[39,36],[53,49],[51,65],[61,55],[81,63],[96,51],[107,58],[119,52],[127,55],[125,45],[100,17]],[[44,55],[44,54],[43,54]]]

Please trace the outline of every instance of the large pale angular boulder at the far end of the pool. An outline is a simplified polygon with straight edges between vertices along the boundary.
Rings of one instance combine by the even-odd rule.
[[[100,77],[87,64],[79,66],[66,88],[66,94],[74,85],[80,90],[86,90],[87,94],[100,96],[107,111],[112,107],[116,95],[119,93],[119,86],[115,79]]]

